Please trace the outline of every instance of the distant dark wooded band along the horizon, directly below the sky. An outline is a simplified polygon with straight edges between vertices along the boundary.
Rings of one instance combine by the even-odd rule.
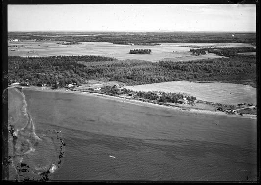
[[[33,33],[31,33],[33,34]],[[36,33],[34,35],[50,33]],[[72,33],[73,34],[73,33]],[[21,40],[39,39],[42,41],[67,41],[67,42],[126,42],[126,43],[256,43],[256,33],[221,33],[221,32],[155,32],[114,34],[101,33],[89,36],[33,36],[28,33],[9,32],[8,38]]]

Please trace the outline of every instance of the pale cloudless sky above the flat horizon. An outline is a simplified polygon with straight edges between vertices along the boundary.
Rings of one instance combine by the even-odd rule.
[[[8,31],[256,31],[255,4],[8,5]]]

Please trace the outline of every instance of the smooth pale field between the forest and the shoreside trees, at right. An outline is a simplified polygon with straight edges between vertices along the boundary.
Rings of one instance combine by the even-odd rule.
[[[125,86],[133,91],[164,91],[171,93],[186,93],[198,100],[214,103],[237,105],[239,103],[253,103],[256,105],[256,88],[242,84],[231,83],[196,83],[189,81],[163,82],[137,86]]]

